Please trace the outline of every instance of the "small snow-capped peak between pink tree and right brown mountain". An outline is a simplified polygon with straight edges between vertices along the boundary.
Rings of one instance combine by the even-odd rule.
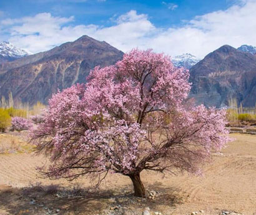
[[[177,55],[172,58],[172,62],[175,67],[184,67],[185,69],[190,69],[193,65],[197,64],[201,59],[195,57],[192,54],[182,54]]]

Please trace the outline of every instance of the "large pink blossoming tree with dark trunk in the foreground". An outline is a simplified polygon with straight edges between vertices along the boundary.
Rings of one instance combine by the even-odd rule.
[[[145,196],[143,170],[200,173],[229,138],[225,111],[187,101],[189,72],[152,50],[134,49],[116,65],[91,71],[85,85],[53,95],[32,130],[37,150],[51,155],[50,178],[107,173],[128,176]]]

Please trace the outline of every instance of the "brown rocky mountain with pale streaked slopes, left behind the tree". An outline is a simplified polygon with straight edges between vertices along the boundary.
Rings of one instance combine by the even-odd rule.
[[[54,49],[0,64],[0,96],[12,92],[14,102],[47,103],[57,89],[86,82],[90,70],[112,65],[123,52],[106,42],[82,36]]]

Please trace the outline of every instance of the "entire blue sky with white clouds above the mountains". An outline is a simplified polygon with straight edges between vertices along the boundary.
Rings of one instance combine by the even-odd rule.
[[[204,57],[256,46],[256,0],[1,0],[0,41],[32,53],[82,35],[124,52],[152,48]]]

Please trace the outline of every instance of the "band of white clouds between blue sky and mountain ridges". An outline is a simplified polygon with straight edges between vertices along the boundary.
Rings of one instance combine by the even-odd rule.
[[[34,17],[5,19],[1,21],[0,32],[9,32],[10,42],[34,53],[86,34],[124,52],[139,47],[170,55],[189,52],[204,57],[224,44],[234,47],[256,45],[256,1],[242,1],[225,11],[197,16],[177,28],[155,27],[146,14],[130,11],[117,17],[110,27],[94,24],[74,26],[74,17],[42,13]]]

